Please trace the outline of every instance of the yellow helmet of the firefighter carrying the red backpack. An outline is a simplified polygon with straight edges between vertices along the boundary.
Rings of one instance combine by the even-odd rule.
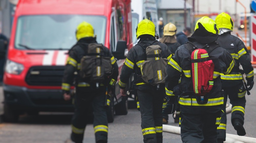
[[[208,32],[211,32],[213,34],[219,33],[218,25],[215,23],[214,20],[210,19],[207,16],[204,16],[197,21],[195,31],[199,28],[198,23],[201,23]]]

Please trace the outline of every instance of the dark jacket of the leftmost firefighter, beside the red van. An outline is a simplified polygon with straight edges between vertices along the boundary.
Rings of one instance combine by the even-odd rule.
[[[90,80],[89,79],[82,79],[79,74],[80,70],[80,60],[83,56],[87,55],[87,49],[89,43],[96,43],[96,38],[82,38],[78,40],[78,42],[70,49],[69,57],[67,59],[67,63],[65,66],[65,71],[62,79],[62,90],[66,93],[69,93],[70,87],[74,82],[78,87],[90,87]],[[87,44],[87,45],[86,45]],[[118,76],[118,65],[116,63],[115,57],[111,54],[107,47],[104,47],[103,53],[105,57],[111,57],[112,67],[114,68],[113,74],[110,77],[117,81]],[[77,72],[75,77],[74,72]],[[101,86],[103,86],[101,84]]]

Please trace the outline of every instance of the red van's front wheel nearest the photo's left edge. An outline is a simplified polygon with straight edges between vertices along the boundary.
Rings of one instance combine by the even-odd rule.
[[[11,110],[9,105],[4,104],[4,121],[18,122],[19,114],[17,111]]]

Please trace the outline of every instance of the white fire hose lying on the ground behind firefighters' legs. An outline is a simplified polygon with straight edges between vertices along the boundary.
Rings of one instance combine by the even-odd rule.
[[[231,112],[232,105],[227,104],[226,113]],[[171,125],[163,125],[163,132],[181,135],[181,128]],[[224,143],[256,143],[256,138],[226,134],[226,141]]]

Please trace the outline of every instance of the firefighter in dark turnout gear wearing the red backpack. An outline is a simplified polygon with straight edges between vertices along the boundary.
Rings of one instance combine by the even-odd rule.
[[[217,126],[220,123],[221,107],[224,102],[223,94],[221,94],[220,73],[230,73],[235,64],[231,55],[215,43],[218,33],[219,28],[214,20],[206,16],[202,17],[197,21],[193,35],[188,38],[191,43],[181,45],[175,55],[168,61],[167,76],[165,77],[166,94],[169,95],[168,97],[173,97],[174,94],[178,95],[179,92],[182,95],[179,99],[182,142],[217,142]],[[214,64],[214,67],[211,66],[211,68],[214,68],[213,73],[208,72],[213,79],[209,82],[209,85],[214,86],[203,98],[194,94],[194,86],[197,84],[194,85],[194,83],[204,77],[193,77],[200,68],[195,66],[196,69],[192,69],[193,63],[199,62],[200,59],[197,61],[194,61],[194,59],[192,62],[192,56],[194,55],[191,56],[192,52],[188,50],[188,47],[194,52],[195,49],[203,50],[204,48],[206,51],[208,50],[208,54],[204,54],[204,59]],[[203,59],[201,62],[203,62]],[[206,73],[202,73],[202,75],[204,74]],[[180,78],[181,83],[177,86]],[[173,104],[175,104],[174,101]]]

